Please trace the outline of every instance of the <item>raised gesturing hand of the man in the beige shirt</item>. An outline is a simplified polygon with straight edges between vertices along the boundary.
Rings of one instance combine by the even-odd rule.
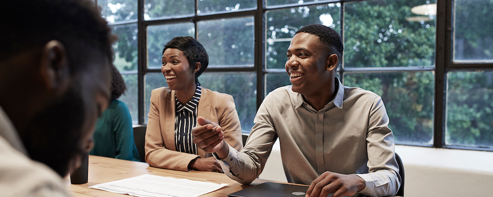
[[[197,147],[208,153],[217,152],[222,158],[226,157],[229,150],[224,146],[226,143],[221,126],[200,116],[197,118],[197,124],[198,126],[192,129],[193,142]]]

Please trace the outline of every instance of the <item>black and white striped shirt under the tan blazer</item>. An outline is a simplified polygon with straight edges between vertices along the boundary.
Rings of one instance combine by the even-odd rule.
[[[175,95],[175,146],[179,152],[197,154],[197,145],[192,142],[192,128],[197,125],[197,106],[201,94],[200,84],[197,84],[192,100],[185,105],[182,105]]]

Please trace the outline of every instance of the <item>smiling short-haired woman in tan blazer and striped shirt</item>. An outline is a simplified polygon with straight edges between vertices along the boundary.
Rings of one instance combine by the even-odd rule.
[[[233,97],[200,86],[197,77],[207,67],[208,57],[192,37],[169,41],[164,46],[162,62],[168,87],[151,93],[145,161],[158,168],[222,172],[214,157],[192,142],[192,128],[197,125],[198,116],[219,123],[224,140],[240,150],[241,126]]]

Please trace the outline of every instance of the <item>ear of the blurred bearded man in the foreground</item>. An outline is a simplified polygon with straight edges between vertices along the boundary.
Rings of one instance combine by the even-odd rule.
[[[40,74],[48,90],[64,90],[68,86],[70,72],[65,47],[59,41],[45,44],[41,54]]]

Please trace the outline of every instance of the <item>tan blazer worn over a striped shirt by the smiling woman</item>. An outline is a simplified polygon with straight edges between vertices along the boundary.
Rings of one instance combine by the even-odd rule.
[[[150,96],[149,120],[145,132],[145,161],[153,167],[188,171],[188,164],[198,155],[178,152],[175,148],[175,91],[166,87],[154,89]],[[202,88],[197,116],[218,123],[224,140],[233,148],[243,148],[241,126],[233,96]],[[207,154],[212,156],[212,154]]]

